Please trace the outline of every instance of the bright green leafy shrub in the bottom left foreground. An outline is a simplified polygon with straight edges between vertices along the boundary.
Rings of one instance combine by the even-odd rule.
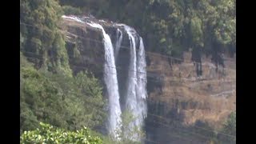
[[[40,122],[40,127],[37,130],[25,131],[22,134],[20,143],[100,144],[102,139],[91,136],[86,127],[82,130],[67,131]]]

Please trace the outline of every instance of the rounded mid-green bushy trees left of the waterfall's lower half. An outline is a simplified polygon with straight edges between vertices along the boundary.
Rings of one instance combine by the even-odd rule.
[[[39,122],[78,130],[100,126],[106,118],[102,87],[92,74],[70,78],[35,70],[22,56],[21,130],[34,130]],[[94,108],[94,109],[93,109]]]

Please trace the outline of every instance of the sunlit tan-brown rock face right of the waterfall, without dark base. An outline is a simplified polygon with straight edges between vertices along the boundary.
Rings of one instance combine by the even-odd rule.
[[[226,68],[218,71],[210,58],[204,58],[201,77],[197,76],[194,63],[190,61],[190,53],[186,52],[184,58],[185,62],[170,67],[166,58],[150,56],[149,74],[162,74],[162,79],[158,82],[149,80],[148,87],[153,89],[149,94],[149,103],[160,103],[163,107],[159,113],[163,115],[176,109],[184,124],[202,120],[218,127],[218,123],[235,110],[235,58],[226,58]],[[161,86],[157,88],[154,83]]]

